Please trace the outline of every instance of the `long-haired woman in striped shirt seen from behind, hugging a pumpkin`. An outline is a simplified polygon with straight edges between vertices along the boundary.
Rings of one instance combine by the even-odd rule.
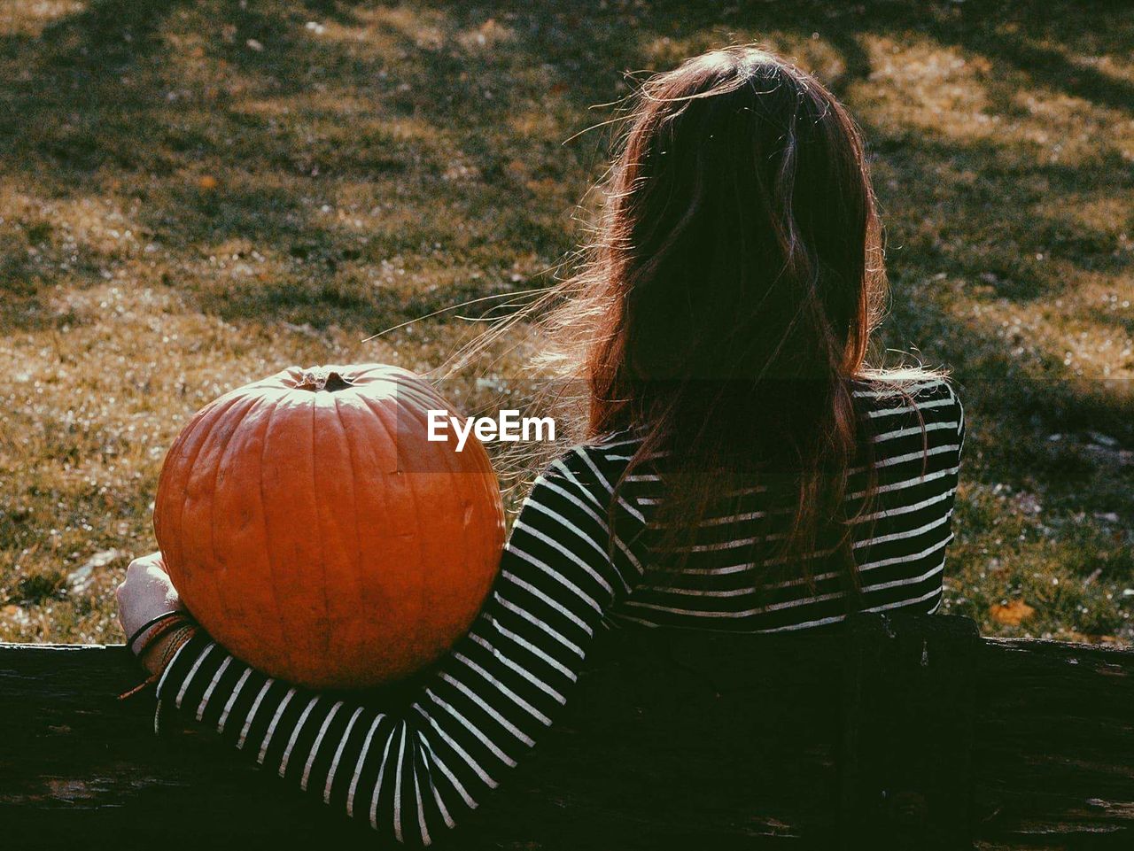
[[[172,614],[160,554],[119,589],[162,704],[406,843],[524,758],[608,628],[798,630],[941,601],[963,415],[936,374],[866,367],[885,274],[844,108],[767,52],[697,57],[645,85],[607,198],[555,325],[591,439],[535,482],[483,612],[404,704],[244,665]]]

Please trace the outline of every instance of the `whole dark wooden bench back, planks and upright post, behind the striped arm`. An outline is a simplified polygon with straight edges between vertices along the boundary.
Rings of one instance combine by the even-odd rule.
[[[446,841],[473,849],[1134,849],[1134,652],[856,615],[615,633]],[[374,848],[209,731],[152,734],[125,649],[0,645],[6,848]]]

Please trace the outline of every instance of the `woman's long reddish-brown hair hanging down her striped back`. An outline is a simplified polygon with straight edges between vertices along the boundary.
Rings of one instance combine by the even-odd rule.
[[[835,556],[853,592],[850,514],[869,496],[848,500],[847,482],[862,463],[869,493],[873,467],[852,382],[881,374],[866,356],[887,291],[858,129],[814,77],[754,46],[651,77],[624,127],[543,363],[586,382],[589,437],[642,437],[619,488],[668,457],[660,553],[687,550],[729,493],[786,488],[764,561],[810,578]]]

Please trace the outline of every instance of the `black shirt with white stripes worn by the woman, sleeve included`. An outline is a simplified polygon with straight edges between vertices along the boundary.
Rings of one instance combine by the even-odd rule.
[[[163,672],[159,700],[348,816],[399,842],[430,844],[555,722],[604,630],[770,632],[833,623],[853,607],[937,611],[964,417],[943,381],[906,392],[855,390],[877,495],[855,522],[854,604],[821,558],[810,580],[787,575],[760,587],[772,560],[761,548],[776,552],[768,518],[790,516],[773,488],[735,494],[699,525],[679,567],[654,569],[665,561],[650,546],[663,475],[635,467],[611,514],[636,449],[623,436],[576,446],[540,476],[469,633],[397,705],[273,680],[203,632]],[[847,500],[861,500],[868,482],[868,470],[854,470]]]

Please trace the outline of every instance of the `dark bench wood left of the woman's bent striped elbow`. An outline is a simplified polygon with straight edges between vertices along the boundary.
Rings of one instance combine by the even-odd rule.
[[[117,697],[141,679],[122,647],[0,645],[6,840],[64,848],[120,836],[129,848],[169,836],[178,844],[208,835],[203,825],[223,825],[237,843],[252,840],[257,823],[304,835],[306,819],[252,766],[210,747],[206,732],[156,739],[153,701]]]

